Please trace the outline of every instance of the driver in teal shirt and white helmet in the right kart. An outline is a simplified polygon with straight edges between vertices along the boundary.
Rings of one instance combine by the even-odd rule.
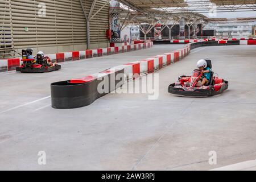
[[[197,62],[197,68],[203,73],[203,79],[201,85],[209,85],[210,84],[210,77],[212,75],[212,69],[207,67],[207,61],[201,59]]]

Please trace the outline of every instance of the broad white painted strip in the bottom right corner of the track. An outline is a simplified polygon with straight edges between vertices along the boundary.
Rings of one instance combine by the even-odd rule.
[[[256,169],[256,160],[248,160],[246,162],[212,169],[210,171],[242,171],[242,170],[254,169],[254,168]]]

